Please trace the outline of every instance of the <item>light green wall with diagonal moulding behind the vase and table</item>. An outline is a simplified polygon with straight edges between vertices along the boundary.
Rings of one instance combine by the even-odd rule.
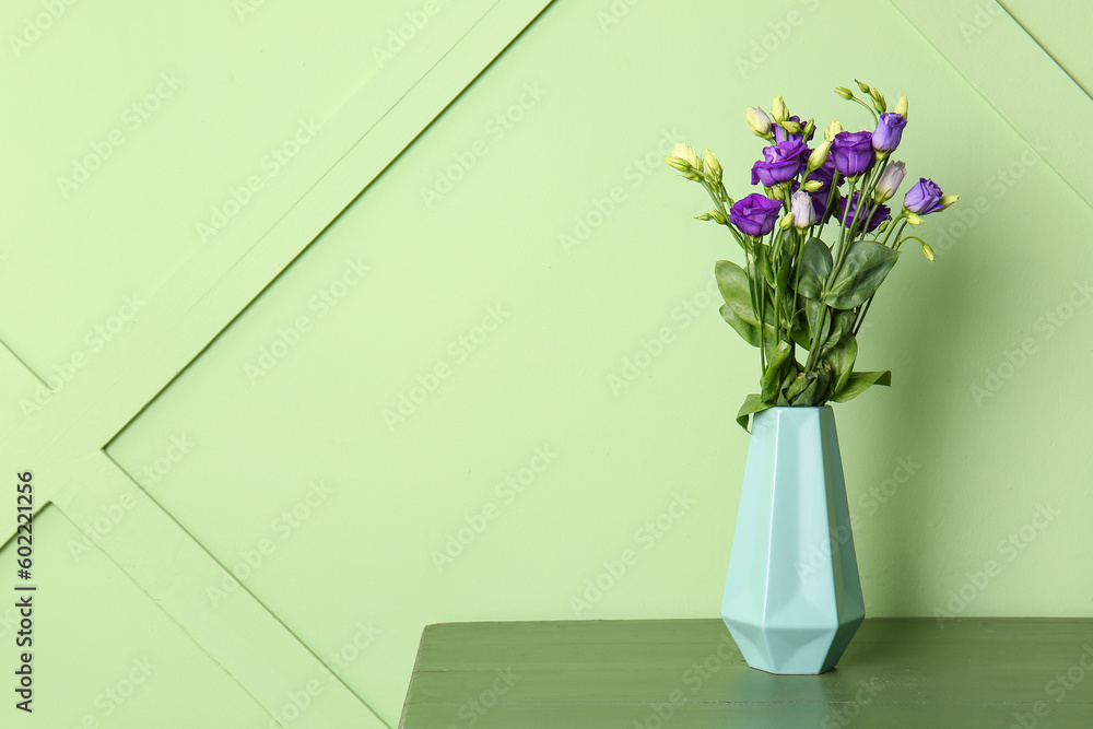
[[[425,624],[716,615],[757,373],[660,157],[742,197],[744,107],[855,78],[961,196],[836,405],[867,614],[1091,614],[1093,11],[1004,4],[8,3],[28,721],[395,726]]]

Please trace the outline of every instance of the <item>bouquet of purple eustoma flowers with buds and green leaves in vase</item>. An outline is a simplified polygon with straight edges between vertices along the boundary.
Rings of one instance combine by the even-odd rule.
[[[767,408],[845,402],[871,385],[891,384],[889,371],[854,369],[857,334],[905,242],[918,242],[933,260],[925,240],[905,234],[907,226],[921,225],[926,215],[959,197],[942,195],[922,177],[892,216],[885,202],[906,169],[891,155],[907,125],[907,97],[889,111],[880,92],[858,86],[865,99],[843,86],[835,91],[868,109],[874,129],[844,131],[834,120],[814,148],[809,143],[815,124],[790,116],[781,96],[769,116],[748,107],[749,126],[769,142],[751,171],[752,185],[762,185],[763,192],[733,201],[709,150],[700,158],[691,146],[678,144],[665,157],[713,199],[714,209],[698,220],[725,225],[744,252],[743,267],[717,261],[714,273],[725,298],[721,316],[759,349],[760,392],[749,395],[737,414],[745,428],[749,415]],[[831,244],[824,242],[825,230]]]

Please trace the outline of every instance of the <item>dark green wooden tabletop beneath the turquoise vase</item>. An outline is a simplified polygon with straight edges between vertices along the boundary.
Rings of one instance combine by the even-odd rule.
[[[748,668],[720,620],[440,623],[400,729],[1093,728],[1093,620],[867,619],[821,675]]]

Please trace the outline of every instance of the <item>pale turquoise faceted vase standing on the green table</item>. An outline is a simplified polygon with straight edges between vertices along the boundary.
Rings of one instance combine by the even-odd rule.
[[[832,409],[757,413],[721,620],[752,668],[823,673],[865,616]]]

